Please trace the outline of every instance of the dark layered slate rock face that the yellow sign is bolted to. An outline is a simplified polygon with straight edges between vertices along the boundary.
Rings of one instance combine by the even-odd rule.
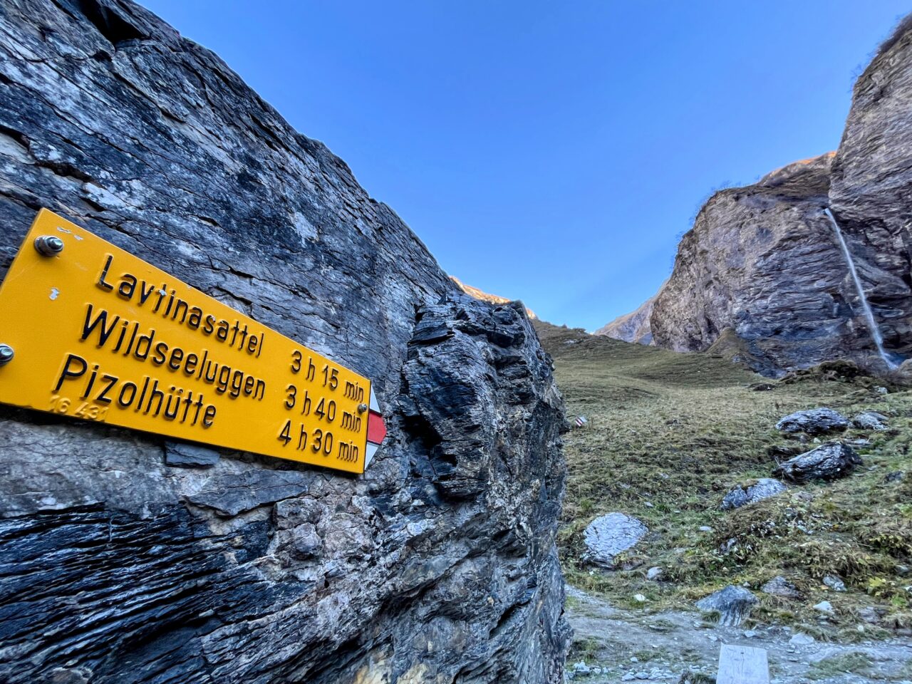
[[[0,409],[0,680],[559,681],[563,406],[523,310],[140,7],[0,35],[3,268],[46,206],[372,378],[389,428],[349,477]]]

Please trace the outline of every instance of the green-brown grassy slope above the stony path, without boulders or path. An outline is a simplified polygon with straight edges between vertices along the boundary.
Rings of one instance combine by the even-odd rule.
[[[590,419],[565,440],[569,478],[560,544],[571,584],[627,607],[640,606],[632,596],[643,594],[650,610],[690,607],[720,586],[747,582],[759,589],[785,575],[803,599],[758,594],[762,605],[754,617],[822,638],[886,637],[909,627],[912,576],[901,575],[912,554],[912,392],[884,396],[874,389],[882,381],[820,373],[752,391],[748,385],[765,379],[710,354],[677,354],[547,323],[536,329],[554,358],[568,416]],[[732,486],[770,476],[772,447],[801,446],[773,429],[776,420],[816,406],[848,415],[876,409],[891,417],[893,429],[845,433],[841,439],[872,443],[859,449],[865,465],[840,482],[793,487],[720,512]],[[895,471],[908,474],[886,482]],[[594,571],[578,561],[582,533],[596,515],[611,511],[636,515],[650,534],[628,554],[631,569]],[[704,525],[713,532],[700,532]],[[722,553],[730,539],[737,540],[734,548]],[[662,566],[668,581],[648,582],[652,565]],[[827,589],[820,581],[825,574],[840,575],[849,590]],[[822,600],[833,604],[834,616],[814,611]],[[885,612],[877,627],[858,618],[865,606]]]

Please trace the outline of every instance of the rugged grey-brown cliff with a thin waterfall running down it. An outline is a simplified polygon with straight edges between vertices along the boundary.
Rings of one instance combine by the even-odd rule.
[[[906,19],[855,83],[838,150],[702,207],[652,304],[654,343],[693,351],[718,341],[773,376],[832,358],[885,368],[912,354],[910,103]]]

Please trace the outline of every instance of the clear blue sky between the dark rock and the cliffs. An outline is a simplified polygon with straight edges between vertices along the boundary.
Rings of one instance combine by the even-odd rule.
[[[448,273],[594,329],[722,184],[834,150],[907,4],[145,0],[323,140]]]

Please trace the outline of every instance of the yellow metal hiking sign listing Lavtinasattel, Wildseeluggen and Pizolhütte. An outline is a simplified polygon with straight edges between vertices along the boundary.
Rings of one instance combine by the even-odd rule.
[[[47,209],[0,321],[6,404],[364,472],[368,378]]]

